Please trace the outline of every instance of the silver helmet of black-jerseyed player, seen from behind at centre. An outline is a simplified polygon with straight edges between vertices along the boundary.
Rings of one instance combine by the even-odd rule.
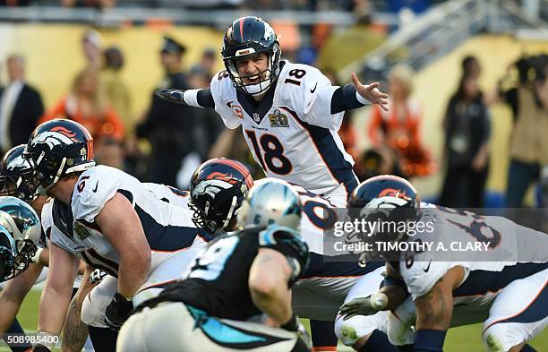
[[[240,228],[266,228],[270,224],[299,231],[303,206],[299,194],[276,178],[255,182],[238,213]]]

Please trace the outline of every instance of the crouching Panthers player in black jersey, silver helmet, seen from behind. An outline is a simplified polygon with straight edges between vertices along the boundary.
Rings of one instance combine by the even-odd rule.
[[[309,350],[289,290],[308,259],[298,194],[282,181],[258,185],[237,219],[244,229],[218,236],[186,279],[125,322],[118,351]]]

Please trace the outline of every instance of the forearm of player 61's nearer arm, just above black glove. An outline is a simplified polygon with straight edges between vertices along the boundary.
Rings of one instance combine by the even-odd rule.
[[[130,298],[149,277],[150,253],[137,255],[131,253],[122,256],[118,270],[118,292],[120,295]]]

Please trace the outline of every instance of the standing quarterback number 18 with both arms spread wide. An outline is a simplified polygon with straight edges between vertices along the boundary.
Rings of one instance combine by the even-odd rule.
[[[276,33],[260,18],[235,20],[223,39],[226,71],[203,90],[160,90],[163,99],[214,107],[228,128],[242,126],[265,175],[304,186],[339,207],[357,185],[354,160],[338,136],[344,112],[369,102],[386,108],[378,83],[332,86],[318,69],[280,60]]]

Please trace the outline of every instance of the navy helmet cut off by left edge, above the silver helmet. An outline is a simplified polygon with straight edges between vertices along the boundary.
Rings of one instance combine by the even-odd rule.
[[[0,196],[12,195],[24,202],[33,202],[38,193],[36,185],[32,186],[34,169],[29,160],[23,158],[25,144],[20,144],[8,150],[0,161]]]

